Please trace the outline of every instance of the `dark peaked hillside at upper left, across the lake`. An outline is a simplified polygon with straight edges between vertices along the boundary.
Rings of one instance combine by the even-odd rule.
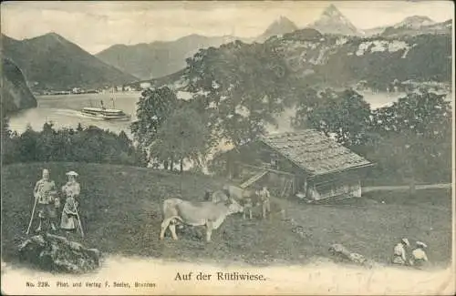
[[[25,40],[2,35],[2,53],[34,89],[92,88],[137,80],[55,33]]]

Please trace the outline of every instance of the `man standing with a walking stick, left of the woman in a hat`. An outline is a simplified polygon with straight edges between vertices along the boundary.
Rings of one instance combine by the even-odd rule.
[[[42,230],[43,224],[47,224],[47,227],[50,225],[51,229],[56,231],[56,209],[60,207],[60,201],[57,198],[56,183],[50,179],[47,168],[43,169],[42,179],[36,182],[33,193],[39,219],[36,232]]]

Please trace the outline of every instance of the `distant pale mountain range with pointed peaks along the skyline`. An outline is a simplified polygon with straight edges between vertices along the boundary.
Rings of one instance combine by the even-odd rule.
[[[447,24],[450,26],[446,26]],[[414,36],[420,34],[450,34],[451,20],[435,23],[427,16],[410,16],[393,26],[381,26],[360,30],[354,26],[336,5],[328,5],[320,17],[307,28],[316,29],[322,34],[343,36]],[[116,66],[143,80],[166,77],[186,66],[185,59],[198,50],[218,47],[234,40],[244,43],[263,43],[273,36],[283,36],[299,28],[289,19],[281,16],[267,27],[264,33],[253,38],[236,36],[185,36],[170,42],[153,42],[136,46],[116,45],[101,51],[96,56],[105,63]]]

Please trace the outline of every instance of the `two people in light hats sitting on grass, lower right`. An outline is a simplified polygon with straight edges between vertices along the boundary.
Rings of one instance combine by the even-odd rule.
[[[428,246],[422,242],[417,241],[415,248],[409,254],[408,250],[411,249],[408,239],[402,239],[394,246],[392,263],[396,265],[408,266],[423,266],[428,262],[426,249]]]

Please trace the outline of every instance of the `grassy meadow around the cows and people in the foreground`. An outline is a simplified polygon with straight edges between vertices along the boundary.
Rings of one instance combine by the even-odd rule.
[[[211,243],[204,241],[202,228],[184,228],[178,230],[180,240],[173,241],[168,234],[160,241],[164,199],[181,193],[183,199],[202,200],[204,189],[220,189],[223,180],[192,174],[179,176],[150,168],[33,163],[2,168],[2,206],[8,209],[2,215],[2,256],[6,262],[16,262],[16,241],[30,219],[31,192],[42,168],[50,169],[58,187],[66,182],[67,170],[79,173],[79,212],[86,232],[82,242],[109,254],[192,262],[300,264],[328,256],[327,248],[337,242],[388,264],[390,247],[407,235],[410,241],[432,244],[428,253],[432,264],[447,264],[451,258],[451,192],[446,190],[420,191],[424,195],[414,199],[397,192],[391,197],[387,192],[338,205],[283,200],[287,220],[279,215],[258,219],[255,209],[253,220],[244,220],[239,214],[228,217],[220,229],[213,231]],[[278,207],[274,200],[273,212]],[[300,226],[294,226],[290,219]],[[77,234],[72,237],[80,240]]]

